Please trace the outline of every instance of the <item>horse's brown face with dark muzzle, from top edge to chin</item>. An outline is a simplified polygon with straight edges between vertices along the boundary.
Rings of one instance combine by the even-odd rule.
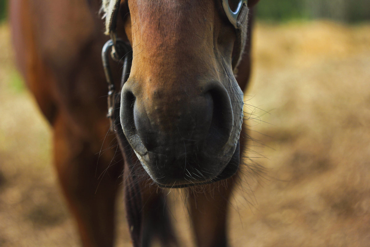
[[[232,176],[243,118],[230,61],[235,30],[214,14],[215,1],[128,6],[134,56],[120,117],[145,171],[161,187]]]

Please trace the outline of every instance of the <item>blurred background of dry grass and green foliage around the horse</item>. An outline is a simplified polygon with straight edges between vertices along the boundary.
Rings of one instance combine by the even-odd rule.
[[[78,246],[0,0],[0,246]],[[370,1],[261,0],[232,246],[370,243]],[[253,174],[248,167],[263,167]],[[129,246],[122,199],[118,244]],[[177,213],[179,211],[179,213]],[[182,209],[176,218],[186,220]],[[175,221],[184,246],[190,227]]]

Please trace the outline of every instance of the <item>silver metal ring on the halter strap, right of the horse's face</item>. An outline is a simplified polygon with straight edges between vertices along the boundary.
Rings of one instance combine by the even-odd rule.
[[[228,17],[229,21],[236,29],[239,29],[248,16],[248,0],[239,0],[238,7],[235,11],[232,11],[230,9],[228,0],[221,1],[223,10],[225,11],[225,14]]]

